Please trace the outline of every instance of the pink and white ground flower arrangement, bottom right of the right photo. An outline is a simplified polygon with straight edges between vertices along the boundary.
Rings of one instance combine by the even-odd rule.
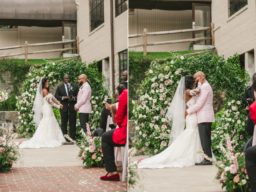
[[[216,179],[222,184],[222,188],[226,187],[227,192],[246,191],[249,189],[249,178],[245,168],[244,153],[233,153],[233,146],[228,134],[225,135],[227,142],[223,146],[222,143],[217,146],[220,148],[220,163]]]

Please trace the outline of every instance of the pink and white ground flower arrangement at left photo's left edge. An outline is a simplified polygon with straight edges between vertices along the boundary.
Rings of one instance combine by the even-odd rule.
[[[0,136],[0,171],[7,172],[11,167],[12,164],[15,163],[19,157],[20,153],[17,150],[19,145],[16,145],[12,139],[17,139],[18,133],[13,133],[11,137],[6,139],[6,135],[3,137]]]

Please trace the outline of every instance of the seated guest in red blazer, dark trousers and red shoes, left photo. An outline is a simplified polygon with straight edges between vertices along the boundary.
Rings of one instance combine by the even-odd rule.
[[[117,173],[115,164],[114,147],[125,146],[127,138],[127,123],[128,123],[128,89],[127,82],[122,82],[117,87],[119,92],[118,108],[116,111],[116,124],[119,128],[105,132],[101,137],[101,148],[104,156],[106,171],[105,176],[100,177],[101,180],[119,181],[120,177]]]

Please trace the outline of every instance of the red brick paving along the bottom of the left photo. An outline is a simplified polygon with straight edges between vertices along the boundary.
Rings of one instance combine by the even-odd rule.
[[[69,167],[14,167],[7,173],[0,172],[2,192],[107,192],[127,191],[126,181],[122,182],[122,167],[117,168],[120,181],[102,181],[105,168],[83,169]]]

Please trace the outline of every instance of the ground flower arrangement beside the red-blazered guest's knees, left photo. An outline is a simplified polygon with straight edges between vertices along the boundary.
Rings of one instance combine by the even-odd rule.
[[[81,158],[84,168],[89,167],[101,167],[104,163],[104,157],[101,149],[101,137],[93,137],[93,132],[90,130],[90,126],[86,123],[87,132],[85,133],[81,129],[80,133],[82,139],[78,141],[81,142],[79,146],[80,152],[78,157]]]

